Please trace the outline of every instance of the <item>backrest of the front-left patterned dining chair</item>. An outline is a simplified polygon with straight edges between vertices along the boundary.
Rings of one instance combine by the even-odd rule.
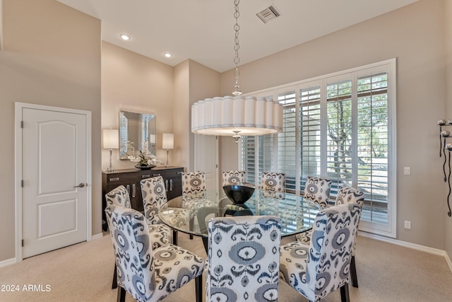
[[[118,285],[137,301],[148,301],[155,289],[153,249],[148,225],[139,211],[109,205],[105,208],[112,238]]]

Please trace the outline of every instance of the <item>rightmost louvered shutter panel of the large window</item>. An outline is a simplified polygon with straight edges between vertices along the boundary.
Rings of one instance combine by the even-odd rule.
[[[388,223],[388,74],[357,79],[358,187],[364,219]]]

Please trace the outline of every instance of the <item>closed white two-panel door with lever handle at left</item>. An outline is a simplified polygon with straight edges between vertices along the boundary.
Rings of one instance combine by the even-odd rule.
[[[24,258],[87,240],[87,118],[22,108]]]

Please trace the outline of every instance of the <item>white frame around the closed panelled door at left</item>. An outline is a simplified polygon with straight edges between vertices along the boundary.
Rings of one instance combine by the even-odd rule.
[[[16,102],[15,109],[15,121],[14,121],[14,153],[15,153],[15,161],[14,161],[14,175],[16,175],[15,179],[15,202],[16,202],[16,262],[20,262],[23,260],[22,253],[22,238],[23,238],[23,196],[22,196],[22,111],[24,108],[36,109],[36,110],[47,110],[47,111],[58,111],[58,112],[67,112],[67,113],[75,113],[79,115],[86,116],[86,182],[88,183],[86,187],[86,240],[90,241],[92,239],[91,233],[92,231],[92,179],[91,179],[91,171],[92,171],[92,156],[91,156],[91,112],[86,110],[77,110],[71,108],[59,108],[53,106],[46,105],[37,105],[37,104],[27,104],[27,103],[19,103]]]

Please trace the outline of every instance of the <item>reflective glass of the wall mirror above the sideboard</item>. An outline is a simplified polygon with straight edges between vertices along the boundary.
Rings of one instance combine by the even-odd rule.
[[[119,112],[119,158],[127,159],[128,141],[136,151],[146,148],[155,156],[157,151],[155,115],[147,113]]]

